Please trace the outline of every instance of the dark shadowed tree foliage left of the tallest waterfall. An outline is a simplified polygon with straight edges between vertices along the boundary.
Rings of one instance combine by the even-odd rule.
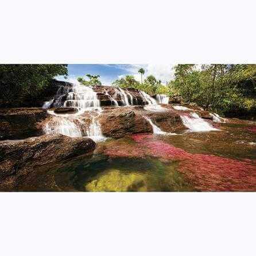
[[[18,107],[33,100],[57,75],[68,75],[66,64],[1,64],[0,106]]]

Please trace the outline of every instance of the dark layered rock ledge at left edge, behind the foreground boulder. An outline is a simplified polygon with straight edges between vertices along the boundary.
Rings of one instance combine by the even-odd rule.
[[[46,111],[41,108],[1,108],[0,140],[42,135],[41,122]]]

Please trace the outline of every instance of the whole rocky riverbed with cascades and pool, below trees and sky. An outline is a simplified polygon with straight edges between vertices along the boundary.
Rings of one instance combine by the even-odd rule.
[[[256,189],[253,121],[107,86],[44,100],[0,109],[1,191]]]

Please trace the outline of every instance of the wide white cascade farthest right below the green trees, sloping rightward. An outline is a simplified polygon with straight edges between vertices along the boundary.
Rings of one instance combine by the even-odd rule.
[[[210,123],[200,118],[196,113],[191,113],[189,115],[180,115],[180,118],[184,126],[186,126],[190,131],[219,131],[212,127]]]

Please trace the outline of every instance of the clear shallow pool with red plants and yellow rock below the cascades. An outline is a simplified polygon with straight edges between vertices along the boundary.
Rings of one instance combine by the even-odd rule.
[[[19,191],[255,191],[255,132],[138,134],[99,142],[93,154],[34,169]]]

